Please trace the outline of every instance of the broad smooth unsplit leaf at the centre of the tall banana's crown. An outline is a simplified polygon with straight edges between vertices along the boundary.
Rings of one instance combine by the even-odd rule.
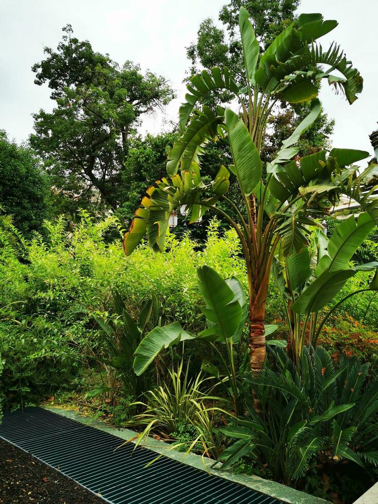
[[[238,181],[241,190],[248,196],[260,182],[262,175],[259,151],[244,122],[230,109],[226,110],[226,124]]]

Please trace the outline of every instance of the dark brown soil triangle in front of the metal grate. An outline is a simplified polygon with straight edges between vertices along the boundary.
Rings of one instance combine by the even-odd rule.
[[[52,467],[0,439],[0,502],[103,504]]]

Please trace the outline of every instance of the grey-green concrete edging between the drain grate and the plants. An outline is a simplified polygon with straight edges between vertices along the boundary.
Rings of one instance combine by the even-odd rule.
[[[85,425],[91,425],[97,429],[103,430],[113,436],[116,436],[123,440],[129,440],[137,436],[139,433],[134,430],[126,429],[123,427],[113,427],[104,422],[103,420],[96,420],[91,417],[83,417],[77,411],[63,409],[63,408],[52,408],[45,407],[54,413],[58,413],[58,415],[62,415],[64,417],[76,420]],[[192,467],[196,467],[202,471],[208,471],[211,474],[216,474],[225,479],[229,479],[230,481],[234,481],[236,483],[242,484],[246,487],[249,487],[253,490],[257,490],[264,494],[270,495],[272,497],[276,497],[277,499],[281,499],[284,502],[289,502],[290,504],[330,504],[328,500],[321,499],[320,497],[314,497],[313,495],[306,494],[304,492],[300,492],[290,487],[286,487],[281,483],[276,483],[275,481],[266,480],[260,478],[259,476],[247,476],[245,474],[233,474],[231,471],[219,471],[216,468],[212,468],[212,461],[209,459],[205,459],[206,469],[204,466],[204,459],[201,455],[196,455],[194,453],[189,453],[188,455],[183,454],[182,452],[176,452],[174,450],[168,450],[167,444],[164,441],[159,441],[154,438],[149,438],[148,444],[145,443],[145,446],[151,449],[152,451],[158,454],[164,454],[166,457],[172,458],[174,460],[178,460],[184,464],[191,465]],[[374,488],[374,487],[373,487]],[[378,492],[378,488],[377,488]],[[364,494],[365,495],[365,494]],[[376,494],[374,494],[376,495]],[[362,497],[360,497],[361,499]],[[372,501],[364,501],[361,502],[356,501],[356,504],[372,504]]]

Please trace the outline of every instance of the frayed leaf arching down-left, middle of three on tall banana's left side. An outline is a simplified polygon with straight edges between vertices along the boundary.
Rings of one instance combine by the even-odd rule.
[[[198,154],[202,153],[202,147],[210,140],[219,135],[219,125],[224,122],[224,116],[215,114],[209,107],[204,106],[202,113],[193,117],[181,138],[176,140],[173,148],[168,153],[167,173],[175,175],[180,161],[182,169],[190,170],[193,161],[198,162]]]

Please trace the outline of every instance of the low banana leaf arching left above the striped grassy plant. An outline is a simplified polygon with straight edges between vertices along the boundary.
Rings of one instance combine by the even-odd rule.
[[[179,322],[173,322],[164,327],[155,327],[140,342],[135,351],[134,371],[139,376],[146,371],[161,350],[177,345],[180,341],[194,339],[181,327]]]

